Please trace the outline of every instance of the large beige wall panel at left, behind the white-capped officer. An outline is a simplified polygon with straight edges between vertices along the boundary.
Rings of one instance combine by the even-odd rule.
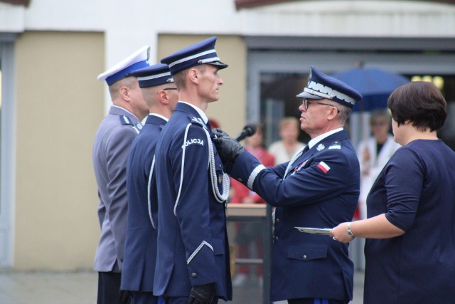
[[[102,33],[26,32],[16,41],[16,269],[92,268],[104,53]]]

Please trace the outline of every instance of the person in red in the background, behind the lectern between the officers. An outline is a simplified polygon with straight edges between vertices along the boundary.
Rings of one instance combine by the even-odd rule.
[[[256,132],[250,137],[246,137],[245,149],[254,155],[259,162],[264,164],[265,167],[272,167],[274,165],[274,157],[269,154],[262,146],[262,139],[264,134],[261,125],[256,125]],[[264,199],[245,187],[242,183],[231,179],[232,196],[230,203],[232,204],[265,204]],[[250,244],[255,243],[257,255],[262,256],[262,224],[257,221],[245,221],[237,223],[237,236],[236,249],[238,258],[247,258],[250,256]],[[232,279],[232,285],[240,286],[246,283],[250,274],[250,267],[247,265],[240,265],[238,272]],[[257,268],[257,276],[259,284],[262,284],[262,266]]]

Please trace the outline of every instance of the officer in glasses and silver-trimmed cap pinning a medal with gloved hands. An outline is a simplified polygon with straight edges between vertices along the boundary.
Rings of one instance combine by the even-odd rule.
[[[301,130],[311,137],[291,161],[265,168],[235,140],[215,130],[220,157],[232,177],[276,207],[271,299],[290,304],[348,303],[353,263],[348,246],[296,226],[331,228],[353,218],[360,169],[343,125],[362,96],[311,67],[303,98]]]

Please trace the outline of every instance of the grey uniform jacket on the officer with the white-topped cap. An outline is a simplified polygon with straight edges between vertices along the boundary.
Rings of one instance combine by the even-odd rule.
[[[127,231],[127,158],[141,127],[131,112],[112,106],[95,136],[92,157],[100,198],[101,228],[95,271],[122,270]]]

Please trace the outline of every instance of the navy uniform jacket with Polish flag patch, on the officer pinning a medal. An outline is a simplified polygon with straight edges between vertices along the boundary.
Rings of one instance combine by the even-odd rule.
[[[243,152],[232,177],[276,206],[271,300],[351,300],[353,263],[348,244],[294,227],[332,228],[351,221],[358,202],[360,169],[346,131],[316,143],[287,165],[264,169]],[[262,169],[262,171],[259,171]]]

